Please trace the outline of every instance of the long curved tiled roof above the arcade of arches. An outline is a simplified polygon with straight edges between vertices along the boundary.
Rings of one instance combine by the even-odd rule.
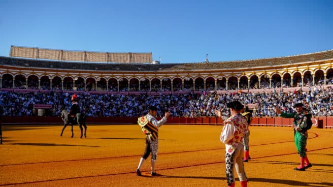
[[[47,68],[47,69],[70,69],[70,70],[92,70],[92,71],[191,71],[191,70],[213,70],[213,69],[243,69],[248,67],[278,66],[290,63],[302,63],[307,61],[323,60],[333,58],[333,50],[322,52],[262,58],[238,61],[216,61],[209,63],[177,63],[177,64],[117,64],[117,63],[84,63],[53,61],[40,59],[25,59],[0,56],[0,65],[15,67]]]

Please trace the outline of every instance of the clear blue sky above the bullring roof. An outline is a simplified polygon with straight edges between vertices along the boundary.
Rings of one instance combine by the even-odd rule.
[[[0,1],[10,46],[152,52],[161,63],[243,60],[333,49],[333,1]]]

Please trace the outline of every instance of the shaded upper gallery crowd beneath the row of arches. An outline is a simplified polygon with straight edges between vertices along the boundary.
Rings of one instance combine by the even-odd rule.
[[[6,77],[6,76],[4,76]],[[51,88],[50,80],[49,79],[41,79],[40,86],[38,83],[37,78],[28,79],[23,76],[17,76],[15,78],[14,88],[16,89],[43,89],[48,90]],[[162,80],[162,86],[160,85],[161,82],[151,82],[151,91],[171,91],[171,80]],[[293,85],[291,85],[291,82]],[[27,84],[27,85],[26,85]],[[97,85],[96,85],[97,84]],[[129,84],[129,87],[128,87]],[[226,84],[228,86],[226,86]],[[333,75],[331,73],[326,78],[326,85],[333,84]],[[251,78],[250,82],[247,79],[240,79],[239,82],[239,89],[248,89],[250,85],[250,89],[259,89],[259,79],[257,77]],[[303,86],[313,86],[313,85],[324,85],[324,77],[323,76],[316,76],[314,83],[313,83],[313,76],[311,74],[306,74],[304,76]],[[300,76],[295,76],[291,81],[290,77],[283,78],[282,80],[282,87],[300,87],[302,86],[302,78]],[[69,78],[65,78],[63,80],[63,90],[80,90],[80,91],[118,91],[118,84],[117,80],[109,81],[108,87],[106,82],[94,82],[94,81],[84,81],[82,78],[79,80],[72,80]],[[201,79],[200,81],[194,81],[195,91],[204,91],[204,80]],[[216,90],[236,90],[238,89],[238,80],[230,79],[226,82],[225,78],[223,80],[218,79],[216,83]],[[274,77],[271,79],[268,76],[263,76],[260,79],[260,88],[269,89],[269,88],[279,88],[281,87],[281,78]],[[13,80],[8,78],[2,79],[2,88],[13,88]],[[119,91],[149,91],[150,85],[149,81],[141,81],[140,89],[139,89],[139,82],[131,82],[125,80],[119,81]],[[52,90],[61,90],[61,80],[54,79],[52,81]],[[206,81],[206,90],[215,90],[215,81],[210,80]],[[182,86],[182,81],[176,81],[173,83],[173,91],[193,91],[193,80],[185,80],[184,86]]]

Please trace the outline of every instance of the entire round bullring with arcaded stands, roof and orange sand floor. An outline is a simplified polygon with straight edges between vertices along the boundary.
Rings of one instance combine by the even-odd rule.
[[[14,46],[11,57],[0,56],[0,186],[226,186],[222,119],[209,108],[227,116],[223,106],[233,98],[254,115],[244,163],[249,186],[333,185],[333,50],[179,64],[159,64],[151,53],[98,55]],[[87,138],[78,126],[74,138],[70,127],[59,136],[59,103],[69,107],[73,93],[88,116]],[[157,176],[149,162],[143,176],[135,173],[145,143],[136,119],[151,104],[147,98],[172,111],[159,131]],[[293,170],[299,155],[292,120],[275,113],[296,101],[308,104],[315,122],[306,171]]]

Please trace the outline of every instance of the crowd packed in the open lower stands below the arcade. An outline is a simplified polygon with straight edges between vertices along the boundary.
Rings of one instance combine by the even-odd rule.
[[[72,95],[69,92],[13,92],[1,91],[0,105],[4,109],[4,116],[33,116],[35,104],[49,104],[52,109],[47,115],[59,116],[62,106],[71,107]],[[78,94],[81,110],[87,116],[141,116],[147,113],[149,105],[156,106],[158,115],[163,116],[164,111],[171,111],[172,116],[198,117],[215,116],[215,109],[222,112],[223,117],[229,116],[226,103],[240,101],[245,105],[258,104],[253,110],[253,116],[278,116],[276,108],[286,112],[293,112],[293,105],[303,102],[307,110],[314,116],[333,116],[330,107],[333,105],[333,89],[323,89],[313,86],[312,89],[294,90],[288,92],[247,93],[247,92],[203,92],[202,94],[188,92],[188,94],[169,95],[113,95],[92,94],[83,92]]]

